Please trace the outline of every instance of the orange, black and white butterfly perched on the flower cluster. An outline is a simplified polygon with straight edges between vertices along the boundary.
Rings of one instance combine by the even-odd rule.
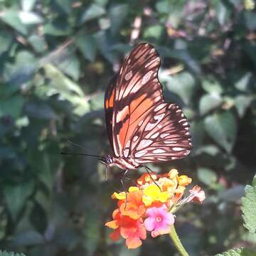
[[[160,64],[156,49],[141,43],[110,81],[105,92],[105,121],[112,154],[102,158],[107,166],[134,170],[190,153],[188,121],[178,105],[164,101],[158,79]]]

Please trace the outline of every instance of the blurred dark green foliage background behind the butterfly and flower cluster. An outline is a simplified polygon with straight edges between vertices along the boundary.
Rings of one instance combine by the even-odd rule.
[[[104,93],[140,42],[159,50],[165,99],[182,107],[193,136],[186,159],[149,166],[176,168],[206,191],[202,206],[177,213],[184,246],[191,255],[255,246],[240,213],[256,166],[255,30],[252,0],[0,0],[0,249],[175,255],[168,235],[137,250],[112,242],[105,166],[60,155],[110,153]],[[121,188],[118,169],[108,181]]]

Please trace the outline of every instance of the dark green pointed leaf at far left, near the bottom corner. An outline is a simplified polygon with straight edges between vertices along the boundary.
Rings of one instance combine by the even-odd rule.
[[[16,220],[18,213],[23,208],[28,196],[33,193],[34,183],[32,181],[24,181],[18,184],[10,184],[4,186],[4,195],[7,206],[10,210],[11,217]]]

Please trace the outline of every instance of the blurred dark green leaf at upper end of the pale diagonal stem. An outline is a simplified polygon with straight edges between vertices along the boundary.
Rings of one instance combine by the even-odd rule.
[[[75,45],[87,60],[95,61],[96,42],[92,35],[86,35],[85,33],[78,34],[75,37]]]

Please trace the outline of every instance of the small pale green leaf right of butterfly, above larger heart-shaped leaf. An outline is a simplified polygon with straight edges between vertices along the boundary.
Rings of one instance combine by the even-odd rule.
[[[199,112],[201,115],[207,114],[210,110],[214,110],[220,106],[222,99],[219,95],[203,95],[199,101]]]

